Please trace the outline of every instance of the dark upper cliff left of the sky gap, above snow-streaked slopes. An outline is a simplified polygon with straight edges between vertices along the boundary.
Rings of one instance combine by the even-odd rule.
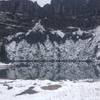
[[[22,13],[24,16],[34,16],[41,7],[30,0],[8,0],[0,1],[0,11]]]

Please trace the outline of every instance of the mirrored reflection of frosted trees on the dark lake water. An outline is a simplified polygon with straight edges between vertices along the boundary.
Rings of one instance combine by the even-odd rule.
[[[94,62],[14,62],[8,78],[22,79],[88,79],[97,78]],[[27,67],[28,66],[28,67]]]

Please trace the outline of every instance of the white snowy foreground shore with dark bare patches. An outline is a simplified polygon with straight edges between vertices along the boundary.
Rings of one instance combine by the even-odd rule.
[[[100,81],[0,79],[0,100],[100,100]]]

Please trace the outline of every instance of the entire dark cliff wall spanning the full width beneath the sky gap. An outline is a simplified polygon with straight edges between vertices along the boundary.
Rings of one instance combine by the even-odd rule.
[[[99,5],[98,0],[51,0],[51,4],[40,7],[31,0],[1,0],[0,11],[9,12],[11,19],[41,19],[47,27],[86,29],[100,24]]]

